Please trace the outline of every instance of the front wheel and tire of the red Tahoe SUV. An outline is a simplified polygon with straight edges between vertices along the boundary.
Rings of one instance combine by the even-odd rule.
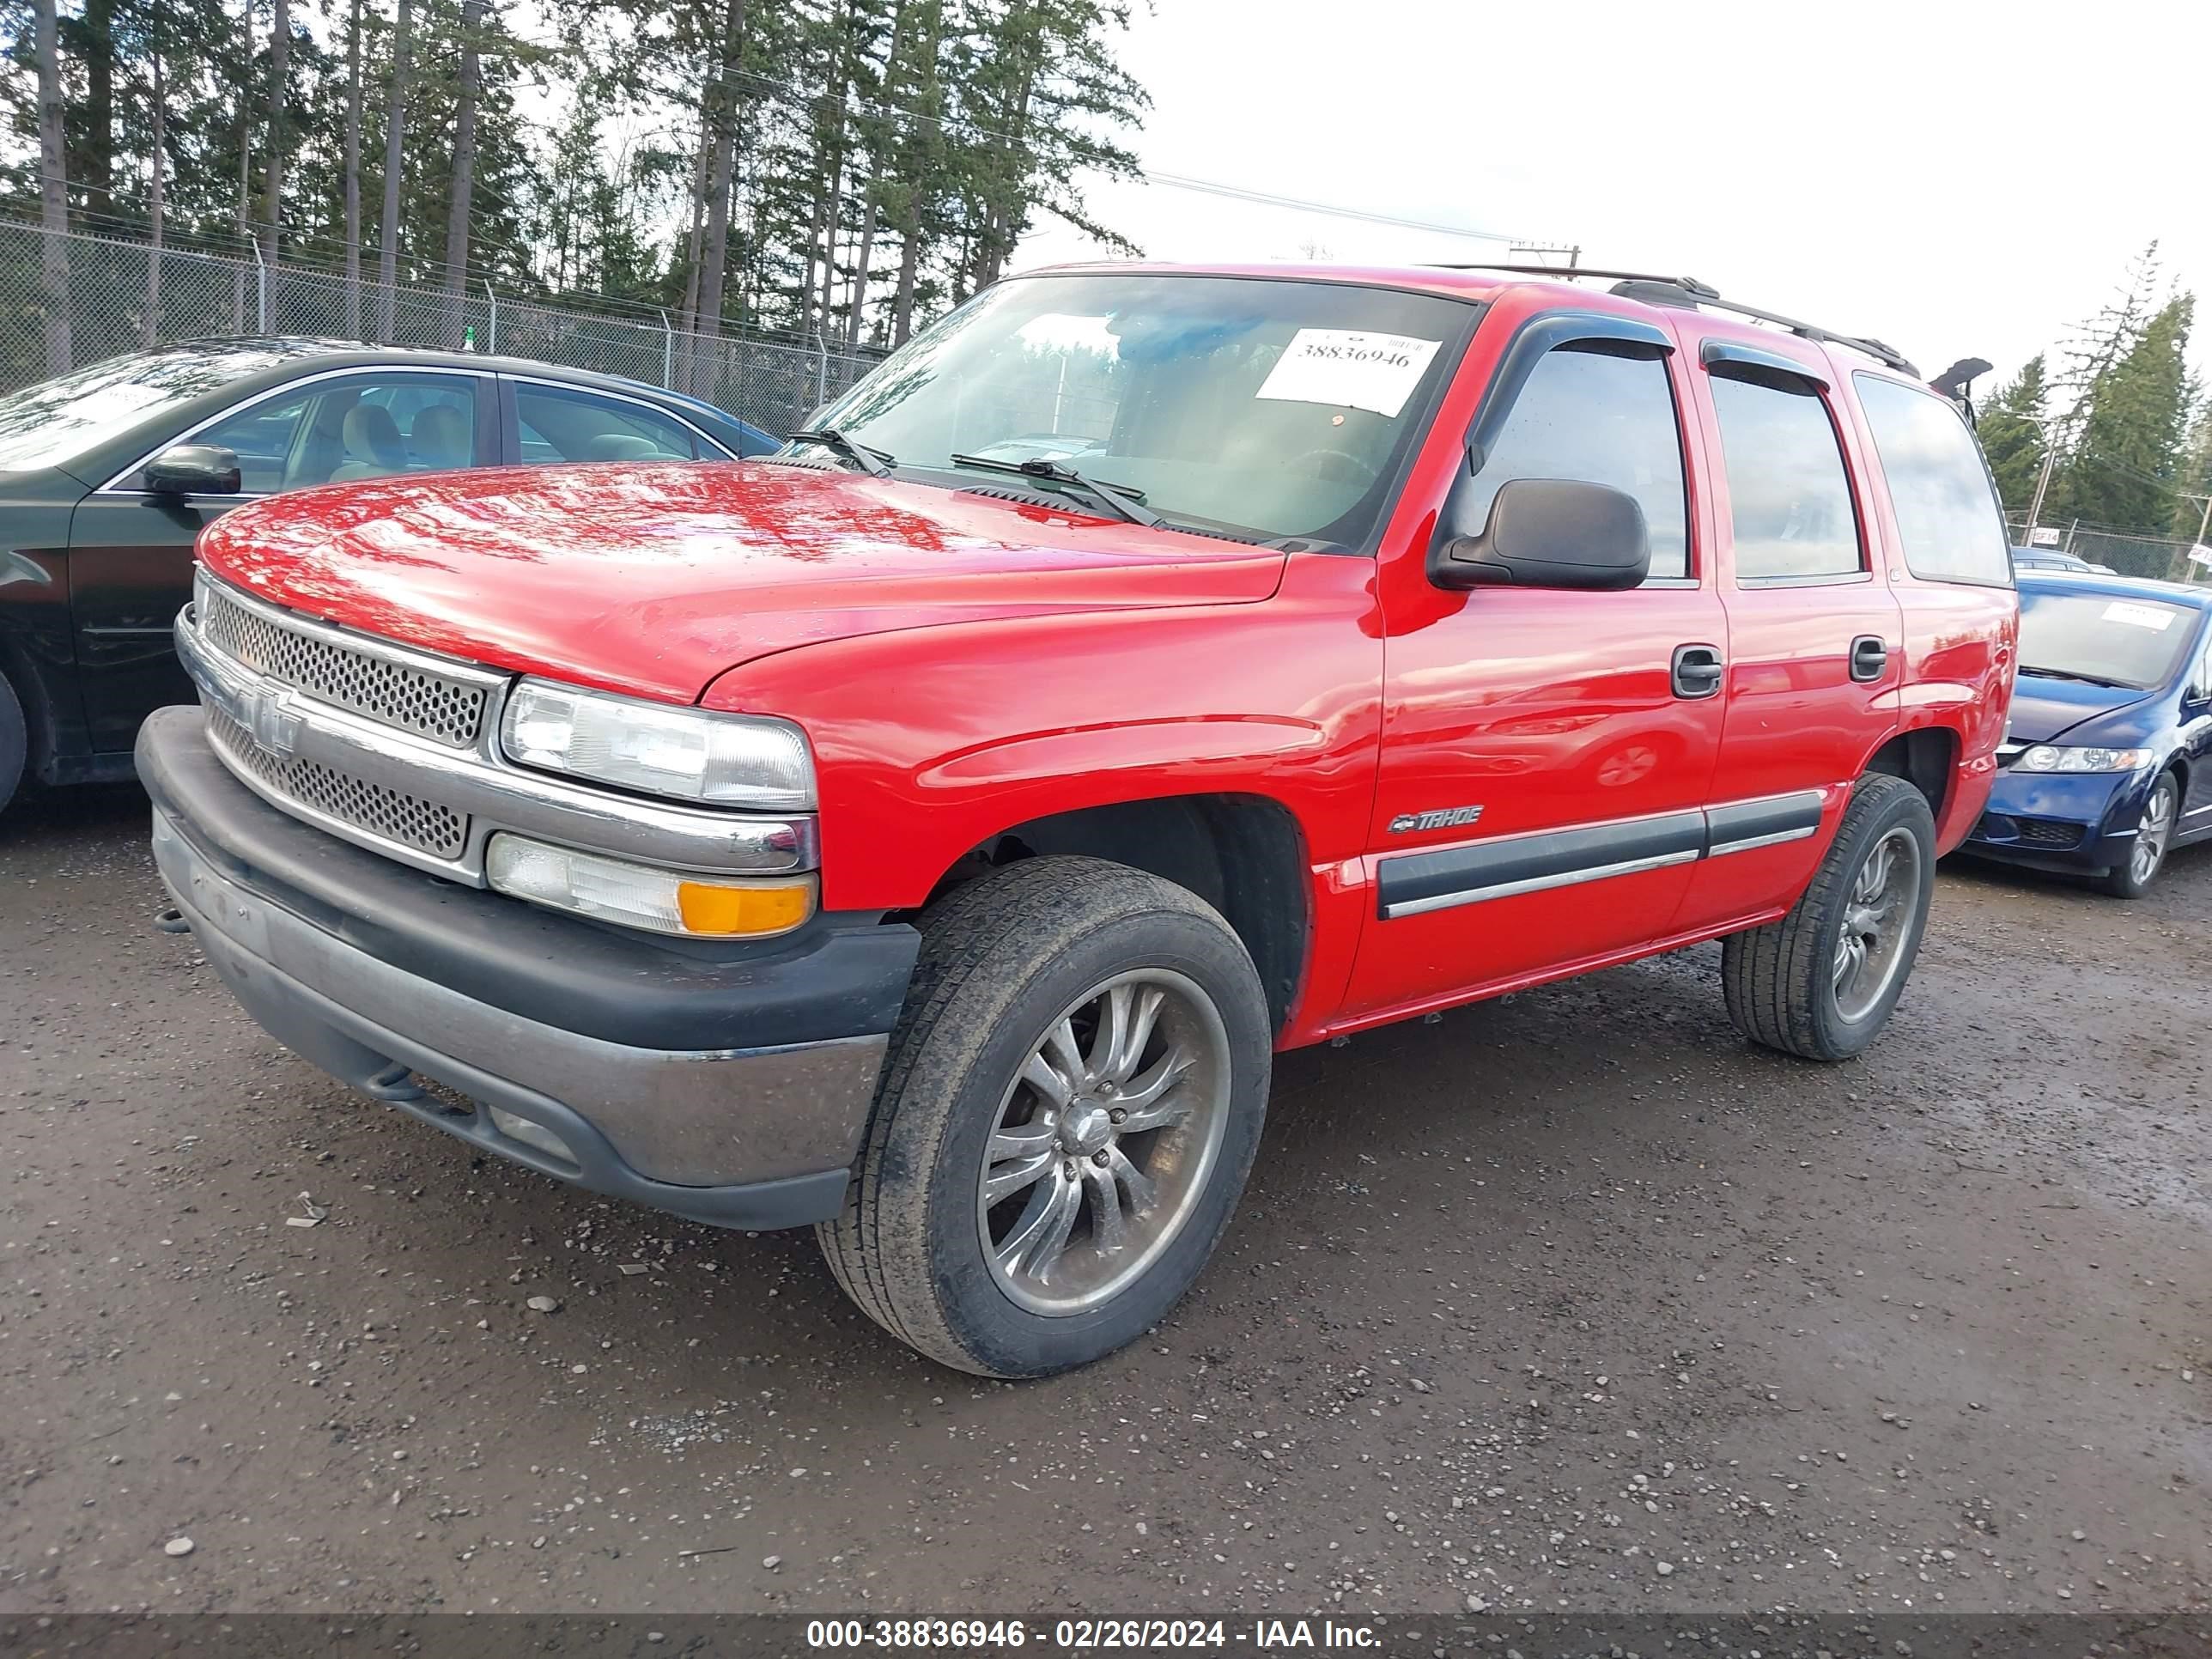
[[[1201,898],[1099,858],[998,869],[922,936],[823,1254],[933,1360],[1088,1365],[1181,1301],[1243,1192],[1274,1057],[1259,973]]]

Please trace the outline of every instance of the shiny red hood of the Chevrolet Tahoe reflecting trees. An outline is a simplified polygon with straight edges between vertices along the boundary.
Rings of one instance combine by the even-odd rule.
[[[785,465],[518,467],[241,507],[201,562],[429,650],[695,701],[752,657],[891,628],[1250,604],[1283,553]]]

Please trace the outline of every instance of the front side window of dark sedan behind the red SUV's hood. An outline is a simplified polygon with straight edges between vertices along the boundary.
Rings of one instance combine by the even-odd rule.
[[[476,460],[473,376],[361,374],[279,392],[192,434],[239,458],[241,489],[431,473]]]

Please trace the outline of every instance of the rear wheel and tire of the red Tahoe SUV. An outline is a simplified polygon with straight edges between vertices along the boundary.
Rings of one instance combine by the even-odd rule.
[[[1905,993],[1933,889],[1927,796],[1869,772],[1790,914],[1723,942],[1721,987],[1736,1031],[1805,1060],[1863,1053]]]

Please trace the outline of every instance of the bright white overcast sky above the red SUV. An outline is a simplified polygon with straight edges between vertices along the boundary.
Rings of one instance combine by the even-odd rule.
[[[1141,4],[1141,0],[1139,0]],[[2212,307],[2212,7],[1980,0],[1157,0],[1146,168],[1579,243],[1997,380],[2161,243]],[[1091,210],[1155,259],[1502,259],[1504,243],[1157,184]],[[1020,265],[1093,259],[1042,223]],[[2212,316],[2192,356],[2212,367]]]

